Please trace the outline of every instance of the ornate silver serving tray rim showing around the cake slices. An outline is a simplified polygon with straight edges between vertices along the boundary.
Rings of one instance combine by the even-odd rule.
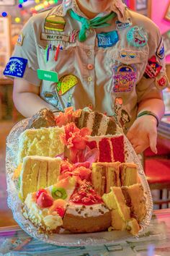
[[[84,246],[84,245],[97,245],[97,244],[110,244],[122,239],[127,239],[131,235],[127,231],[104,231],[97,233],[88,234],[70,234],[64,230],[61,230],[60,234],[44,234],[40,233],[37,228],[31,223],[31,221],[26,220],[22,215],[22,202],[18,197],[17,188],[12,179],[14,169],[17,168],[17,152],[18,152],[18,138],[19,135],[24,131],[28,124],[29,119],[24,119],[19,121],[9,133],[6,140],[6,182],[7,182],[7,192],[8,192],[8,206],[11,208],[14,220],[17,221],[19,226],[33,236],[35,239],[40,239],[44,242],[55,244],[59,246]],[[124,136],[125,143],[125,162],[134,162],[138,166],[138,176],[140,182],[143,185],[144,193],[146,195],[146,208],[147,213],[143,221],[140,222],[140,233],[148,227],[151,216],[153,212],[153,200],[151,197],[151,191],[148,187],[148,182],[143,171],[143,167],[135,153],[132,145],[130,144],[127,137]]]

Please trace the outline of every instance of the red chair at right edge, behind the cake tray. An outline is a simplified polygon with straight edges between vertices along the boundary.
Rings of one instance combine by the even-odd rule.
[[[170,151],[158,145],[158,154],[154,155],[151,150],[144,152],[143,166],[151,190],[160,190],[160,198],[154,200],[153,204],[161,205],[170,203]],[[166,199],[162,198],[163,189],[167,189]]]

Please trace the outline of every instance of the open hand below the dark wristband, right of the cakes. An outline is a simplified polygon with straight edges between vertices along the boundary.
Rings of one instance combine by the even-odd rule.
[[[130,127],[127,137],[130,140],[135,153],[140,154],[150,147],[153,153],[157,153],[157,121],[154,116],[140,116]]]

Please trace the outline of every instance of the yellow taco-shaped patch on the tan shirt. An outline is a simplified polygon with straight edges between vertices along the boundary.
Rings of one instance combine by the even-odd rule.
[[[68,74],[66,76],[61,77],[59,80],[56,90],[58,91],[59,95],[63,95],[64,93],[68,92],[73,86],[78,84],[78,79],[73,74]]]

